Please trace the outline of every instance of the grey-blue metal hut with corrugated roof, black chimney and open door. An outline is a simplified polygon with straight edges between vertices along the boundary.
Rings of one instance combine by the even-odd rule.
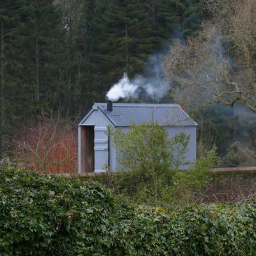
[[[150,122],[152,116],[154,122],[166,127],[169,138],[180,132],[190,135],[188,161],[194,161],[197,124],[178,104],[95,103],[78,125],[78,172],[106,172],[106,166],[111,172],[118,170],[108,125],[127,132],[131,124]]]

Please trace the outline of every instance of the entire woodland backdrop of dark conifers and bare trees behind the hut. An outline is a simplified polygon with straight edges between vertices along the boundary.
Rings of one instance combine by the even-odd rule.
[[[195,118],[198,145],[216,144],[223,164],[255,164],[255,10],[252,0],[1,1],[2,157],[42,113],[72,124],[124,72],[152,75],[154,55],[170,84],[159,102]]]

